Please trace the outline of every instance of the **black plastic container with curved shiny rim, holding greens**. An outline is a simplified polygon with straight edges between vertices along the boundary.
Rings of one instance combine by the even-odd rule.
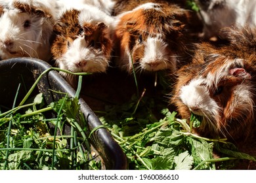
[[[25,86],[20,88],[18,93],[17,103],[19,103],[37,77],[50,67],[51,65],[49,65],[49,63],[34,58],[13,58],[0,61],[1,105],[11,107],[18,84],[24,83]],[[75,95],[75,90],[56,71],[50,71],[47,75],[44,75],[37,84],[37,88],[38,92],[43,93],[47,104],[50,104],[52,101],[57,101],[64,96],[64,94],[61,93],[51,92],[51,90],[68,93],[71,97]],[[79,103],[81,105],[81,112],[83,112],[85,118],[87,118],[90,130],[102,125],[93,110],[91,110],[83,99],[79,99]],[[127,168],[125,154],[107,129],[97,129],[91,139],[91,144],[98,154],[100,154],[106,169]]]

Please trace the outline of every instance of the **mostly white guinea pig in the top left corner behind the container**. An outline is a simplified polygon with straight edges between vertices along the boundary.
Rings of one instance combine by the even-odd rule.
[[[26,56],[49,61],[56,2],[1,0],[0,7],[0,58]]]

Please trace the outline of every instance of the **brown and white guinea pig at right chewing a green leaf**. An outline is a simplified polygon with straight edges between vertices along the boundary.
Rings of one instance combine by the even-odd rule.
[[[236,141],[255,133],[256,29],[226,33],[230,44],[198,44],[192,63],[177,72],[171,102],[182,118],[202,117],[196,133]]]

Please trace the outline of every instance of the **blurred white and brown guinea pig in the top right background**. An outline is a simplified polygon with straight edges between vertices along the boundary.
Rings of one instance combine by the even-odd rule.
[[[223,27],[256,25],[256,1],[250,0],[196,0],[204,23],[205,39],[218,37]]]

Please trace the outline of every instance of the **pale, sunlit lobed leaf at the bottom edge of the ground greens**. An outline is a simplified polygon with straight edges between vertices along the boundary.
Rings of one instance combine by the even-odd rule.
[[[194,159],[188,154],[187,151],[185,151],[178,156],[175,156],[174,161],[176,164],[175,170],[190,170],[192,168]]]

